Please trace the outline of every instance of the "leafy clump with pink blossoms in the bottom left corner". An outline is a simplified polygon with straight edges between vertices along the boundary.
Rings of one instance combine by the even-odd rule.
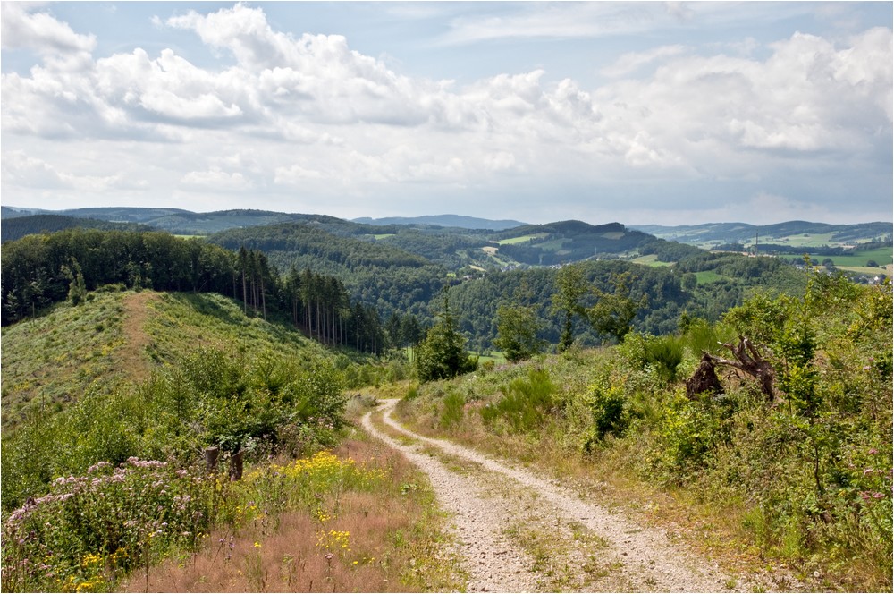
[[[5,518],[3,590],[114,590],[133,567],[196,547],[220,488],[196,469],[136,457],[55,479]]]

